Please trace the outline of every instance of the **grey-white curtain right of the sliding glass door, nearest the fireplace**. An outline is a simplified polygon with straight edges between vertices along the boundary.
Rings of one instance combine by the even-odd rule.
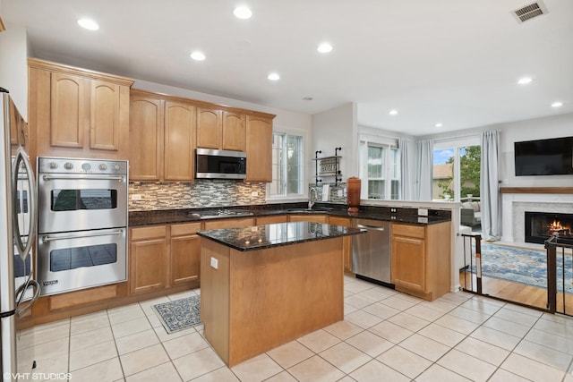
[[[482,236],[487,241],[501,237],[500,208],[500,132],[482,133],[482,162],[480,166],[480,199]]]

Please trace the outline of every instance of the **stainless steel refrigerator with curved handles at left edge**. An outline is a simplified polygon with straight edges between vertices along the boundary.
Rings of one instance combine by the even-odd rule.
[[[37,232],[36,183],[26,152],[26,123],[0,88],[0,348],[2,380],[18,379],[16,317],[38,299],[32,247]],[[31,363],[31,362],[30,362]],[[32,365],[20,365],[30,372]]]

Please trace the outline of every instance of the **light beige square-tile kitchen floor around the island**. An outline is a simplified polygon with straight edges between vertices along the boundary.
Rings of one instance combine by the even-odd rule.
[[[77,382],[573,382],[573,318],[463,292],[428,302],[348,276],[343,321],[229,369],[202,327],[167,335],[150,308],[191,293],[27,329],[19,360]]]

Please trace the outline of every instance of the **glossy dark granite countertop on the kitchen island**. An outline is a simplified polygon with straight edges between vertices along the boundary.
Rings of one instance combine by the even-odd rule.
[[[277,223],[247,228],[226,228],[197,233],[235,250],[263,250],[281,245],[332,239],[365,230],[313,222]]]

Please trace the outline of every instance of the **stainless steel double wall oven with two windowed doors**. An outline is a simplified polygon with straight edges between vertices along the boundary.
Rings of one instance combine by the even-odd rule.
[[[38,157],[42,295],[127,279],[127,161]]]

